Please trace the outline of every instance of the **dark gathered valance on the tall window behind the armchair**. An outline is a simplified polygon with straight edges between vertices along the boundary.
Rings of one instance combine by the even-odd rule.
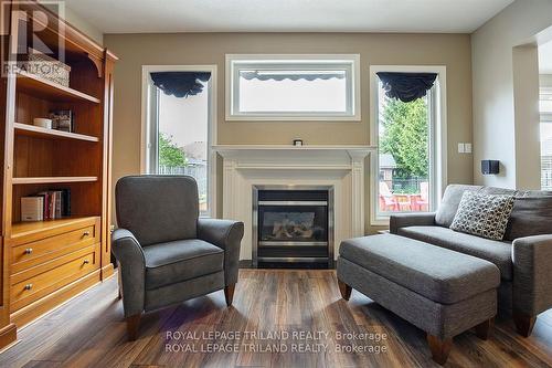
[[[153,72],[153,85],[166,95],[176,97],[194,96],[203,91],[203,83],[211,77],[209,72]]]

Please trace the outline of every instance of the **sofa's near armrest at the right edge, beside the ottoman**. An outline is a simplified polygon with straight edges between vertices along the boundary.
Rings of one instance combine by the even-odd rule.
[[[552,234],[513,241],[513,309],[535,316],[552,307]]]

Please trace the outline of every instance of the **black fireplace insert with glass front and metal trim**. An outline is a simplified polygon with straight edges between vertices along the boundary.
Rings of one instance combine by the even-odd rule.
[[[333,266],[332,187],[253,187],[253,266]]]

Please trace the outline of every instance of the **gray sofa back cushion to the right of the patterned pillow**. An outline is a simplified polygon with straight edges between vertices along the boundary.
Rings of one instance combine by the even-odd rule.
[[[552,191],[518,192],[505,239],[552,233]]]

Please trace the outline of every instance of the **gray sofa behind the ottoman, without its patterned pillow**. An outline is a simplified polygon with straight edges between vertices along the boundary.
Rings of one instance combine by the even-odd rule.
[[[503,241],[449,229],[466,190],[514,196]],[[522,336],[531,334],[538,314],[552,307],[552,192],[452,185],[437,212],[393,214],[390,232],[497,265],[501,276],[499,309],[512,313]]]

